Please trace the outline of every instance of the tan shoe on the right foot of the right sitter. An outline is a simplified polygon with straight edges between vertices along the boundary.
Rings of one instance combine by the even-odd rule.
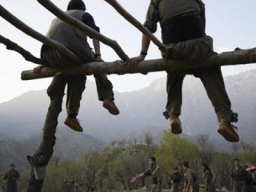
[[[237,129],[237,127],[226,121],[226,119],[221,119],[218,123],[218,133],[228,142],[239,142],[239,135],[234,129]]]

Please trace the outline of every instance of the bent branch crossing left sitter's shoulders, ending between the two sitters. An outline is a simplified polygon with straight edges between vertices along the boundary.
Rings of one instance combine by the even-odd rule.
[[[110,38],[105,37],[103,34],[98,33],[96,30],[91,29],[89,26],[86,26],[84,23],[78,21],[76,18],[70,17],[60,10],[54,3],[49,0],[38,0],[38,2],[46,7],[52,14],[56,15],[58,18],[61,18],[63,21],[68,22],[70,25],[77,27],[79,30],[82,30],[90,37],[98,39],[98,41],[103,42],[107,46],[113,48],[113,50],[118,54],[122,61],[126,61],[128,56],[122,50],[121,46],[118,43]]]

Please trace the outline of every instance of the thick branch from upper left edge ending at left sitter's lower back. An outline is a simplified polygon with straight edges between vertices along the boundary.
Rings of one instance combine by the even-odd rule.
[[[30,26],[26,26],[24,22],[16,18],[13,14],[11,14],[8,10],[6,10],[3,6],[0,5],[0,15],[2,18],[6,19],[7,22],[10,22],[13,26],[22,30],[25,34],[29,35],[32,38],[37,39],[39,42],[46,44],[56,50],[60,50],[63,54],[66,54],[71,59],[77,60],[76,55],[70,51],[66,46],[63,46],[62,43],[56,42],[50,38],[46,38],[44,35],[38,33],[36,30],[30,28]]]

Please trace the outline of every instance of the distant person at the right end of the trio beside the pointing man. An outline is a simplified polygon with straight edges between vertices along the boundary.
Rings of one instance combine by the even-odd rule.
[[[205,190],[206,192],[214,192],[214,176],[210,171],[209,166],[206,163],[202,163],[202,178],[205,181]]]

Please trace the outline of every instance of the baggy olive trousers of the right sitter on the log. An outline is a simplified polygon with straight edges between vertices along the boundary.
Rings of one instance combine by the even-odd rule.
[[[205,38],[191,39],[186,42],[168,44],[170,50],[166,58],[186,59],[189,61],[200,60],[216,54],[213,50],[213,40],[209,36]],[[181,114],[182,108],[182,83],[186,74],[193,74],[200,78],[206,93],[214,106],[218,121],[221,118],[232,122],[233,111],[230,109],[230,99],[226,93],[222,71],[220,67],[205,67],[191,70],[169,70],[167,72],[166,111],[169,114]]]

